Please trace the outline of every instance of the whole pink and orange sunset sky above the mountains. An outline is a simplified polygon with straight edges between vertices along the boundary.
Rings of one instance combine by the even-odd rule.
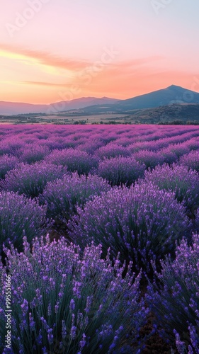
[[[6,0],[0,101],[199,92],[199,1]]]

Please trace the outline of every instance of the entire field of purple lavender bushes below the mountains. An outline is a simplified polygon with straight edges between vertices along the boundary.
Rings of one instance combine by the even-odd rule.
[[[1,125],[0,352],[199,353],[198,173],[197,126]]]

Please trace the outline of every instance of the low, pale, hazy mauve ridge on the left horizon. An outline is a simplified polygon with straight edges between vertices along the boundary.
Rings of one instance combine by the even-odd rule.
[[[72,101],[61,101],[50,105],[33,105],[30,103],[0,101],[0,115],[17,115],[24,113],[57,113],[64,110],[76,110],[89,105],[110,104],[115,98],[82,97]]]

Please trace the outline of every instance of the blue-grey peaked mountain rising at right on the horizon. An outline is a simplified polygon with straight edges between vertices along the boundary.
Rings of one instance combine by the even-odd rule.
[[[166,89],[153,91],[141,96],[116,101],[106,105],[90,105],[84,108],[84,113],[130,112],[130,110],[143,108],[157,108],[173,103],[199,103],[199,93],[181,86],[171,85]]]

